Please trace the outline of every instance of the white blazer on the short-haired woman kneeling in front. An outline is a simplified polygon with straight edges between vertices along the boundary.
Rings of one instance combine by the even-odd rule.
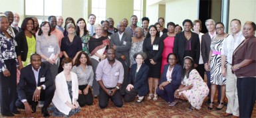
[[[64,72],[61,72],[56,76],[55,79],[55,95],[53,96],[53,104],[59,111],[68,115],[71,110],[68,105],[66,105],[66,101],[69,103],[74,103],[75,99],[78,99],[78,80],[77,76],[74,72],[70,72],[71,80],[72,80],[72,102],[68,93],[68,85],[66,84],[66,79],[64,76]]]

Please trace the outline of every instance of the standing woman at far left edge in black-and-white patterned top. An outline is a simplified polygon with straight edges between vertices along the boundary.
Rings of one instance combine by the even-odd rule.
[[[15,101],[17,100],[17,56],[15,52],[15,40],[11,32],[7,32],[9,21],[7,17],[0,16],[0,101],[1,115],[13,117],[19,114]]]

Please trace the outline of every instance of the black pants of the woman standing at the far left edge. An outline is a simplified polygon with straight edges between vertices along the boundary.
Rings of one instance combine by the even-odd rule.
[[[17,99],[17,68],[15,59],[4,60],[7,70],[11,76],[5,77],[0,73],[0,101],[1,114],[5,115],[17,111],[15,101]]]

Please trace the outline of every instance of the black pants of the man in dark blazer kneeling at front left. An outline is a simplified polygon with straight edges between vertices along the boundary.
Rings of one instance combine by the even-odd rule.
[[[47,109],[47,107],[49,107],[50,103],[52,102],[54,93],[55,93],[54,86],[49,86],[46,89],[41,89],[39,101],[44,101],[43,108]],[[29,103],[29,105],[36,106],[38,103],[38,101],[33,101],[33,94],[27,95],[26,99],[27,99],[27,102]],[[17,99],[16,106],[19,109],[25,109],[25,106],[24,106],[23,102],[21,101],[21,99]]]

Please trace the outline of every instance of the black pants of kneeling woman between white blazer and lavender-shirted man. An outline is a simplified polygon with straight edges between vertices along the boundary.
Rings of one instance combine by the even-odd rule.
[[[80,107],[83,107],[84,105],[92,105],[93,103],[93,97],[92,97],[92,91],[90,90],[90,88],[88,89],[88,94],[84,95],[84,88],[86,88],[86,86],[78,86],[78,88],[80,89],[80,91],[82,91],[82,94],[78,94],[78,103],[80,105]]]

